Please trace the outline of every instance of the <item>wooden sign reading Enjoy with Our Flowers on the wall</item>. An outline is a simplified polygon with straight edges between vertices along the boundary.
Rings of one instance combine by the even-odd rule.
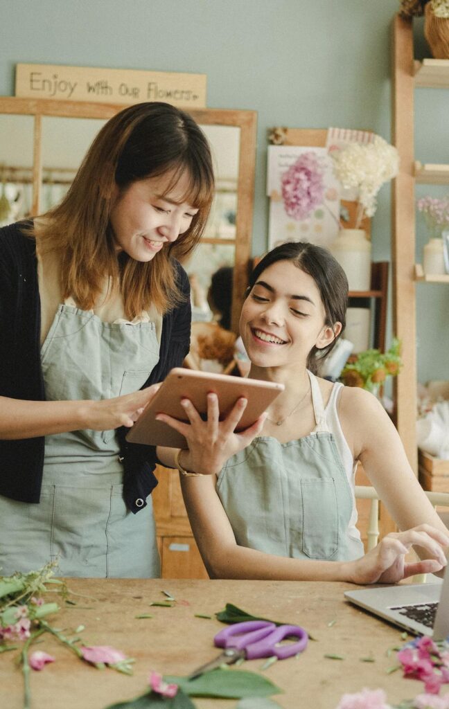
[[[16,96],[99,104],[165,101],[178,108],[205,108],[206,79],[206,74],[18,64]]]

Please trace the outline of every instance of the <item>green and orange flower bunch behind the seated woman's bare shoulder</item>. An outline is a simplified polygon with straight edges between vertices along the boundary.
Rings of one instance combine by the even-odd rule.
[[[387,352],[365,350],[351,354],[340,374],[345,386],[361,386],[375,392],[387,376],[396,376],[401,369],[401,343],[395,337]]]

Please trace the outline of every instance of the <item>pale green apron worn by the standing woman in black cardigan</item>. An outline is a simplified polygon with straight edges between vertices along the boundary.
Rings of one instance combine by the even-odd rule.
[[[137,391],[159,359],[154,323],[104,323],[60,305],[41,349],[48,401],[102,399]],[[45,437],[39,504],[0,498],[0,574],[38,569],[61,576],[156,577],[160,562],[151,498],[136,515],[123,501],[113,430]]]

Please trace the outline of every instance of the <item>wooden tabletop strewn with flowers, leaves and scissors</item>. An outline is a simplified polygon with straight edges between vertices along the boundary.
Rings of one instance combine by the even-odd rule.
[[[66,606],[53,620],[67,634],[84,625],[86,644],[108,644],[136,659],[133,676],[113,670],[99,671],[84,664],[68,649],[45,634],[35,647],[55,655],[57,661],[31,676],[33,709],[104,709],[129,700],[148,687],[154,669],[162,674],[187,675],[216,656],[213,637],[225,627],[213,615],[234,603],[255,615],[304,625],[316,642],[299,659],[287,659],[261,671],[262,660],[247,661],[243,668],[262,672],[284,693],[272,696],[285,709],[335,709],[345,692],[382,687],[390,703],[423,691],[421,682],[403,679],[401,671],[387,674],[396,664],[387,651],[404,643],[401,632],[343,600],[350,584],[295,581],[200,581],[68,579],[77,605]],[[150,607],[162,601],[162,590],[172,593],[172,608]],[[94,600],[96,599],[96,600]],[[154,618],[138,620],[136,615]],[[335,623],[333,623],[335,621]],[[343,660],[326,659],[340,654]],[[375,662],[360,661],[372,654]],[[21,670],[16,652],[0,654],[0,706],[22,709]],[[235,670],[235,671],[238,671]],[[236,700],[193,698],[199,709],[235,707]]]

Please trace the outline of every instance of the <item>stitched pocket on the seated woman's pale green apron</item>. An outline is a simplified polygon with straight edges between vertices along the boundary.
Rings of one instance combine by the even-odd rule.
[[[338,551],[338,502],[333,478],[301,481],[302,551],[328,559]],[[326,515],[323,516],[323,511]]]

